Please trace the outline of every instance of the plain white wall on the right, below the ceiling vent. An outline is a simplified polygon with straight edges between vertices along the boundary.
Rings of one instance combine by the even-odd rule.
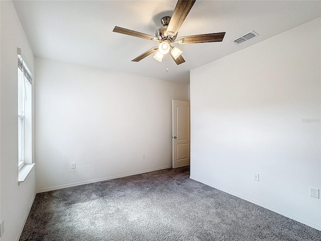
[[[321,230],[320,20],[191,71],[191,178]]]

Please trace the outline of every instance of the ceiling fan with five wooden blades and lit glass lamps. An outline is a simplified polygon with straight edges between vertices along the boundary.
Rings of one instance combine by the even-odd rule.
[[[132,61],[138,62],[148,55],[156,52],[154,59],[159,62],[162,62],[164,55],[170,54],[174,59],[177,65],[185,62],[182,57],[182,51],[178,48],[172,46],[173,43],[178,44],[194,44],[194,43],[208,43],[208,42],[222,42],[225,32],[222,33],[212,33],[212,34],[200,34],[192,36],[180,37],[176,40],[178,31],[183,24],[188,13],[192,9],[196,0],[179,0],[174,9],[174,13],[171,17],[164,17],[161,20],[163,27],[156,30],[155,36],[148,34],[139,33],[133,30],[124,29],[121,27],[115,26],[113,32],[126,34],[142,39],[148,39],[152,41],[157,41],[160,44],[158,46],[152,47],[147,50],[145,53],[139,55],[137,58],[134,58]],[[158,51],[157,51],[158,50]],[[168,68],[167,68],[168,71]]]

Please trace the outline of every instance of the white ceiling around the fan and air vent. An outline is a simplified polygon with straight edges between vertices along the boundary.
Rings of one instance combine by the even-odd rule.
[[[113,33],[115,26],[153,35],[177,1],[14,1],[35,56],[153,78],[189,82],[197,68],[321,16],[320,1],[196,1],[178,37],[226,32],[223,42],[179,45],[186,60],[162,63],[149,55],[157,42]],[[232,40],[259,34],[236,45]],[[307,40],[308,42],[308,40]],[[306,44],[306,43],[302,43]],[[241,60],[240,60],[241,61]]]

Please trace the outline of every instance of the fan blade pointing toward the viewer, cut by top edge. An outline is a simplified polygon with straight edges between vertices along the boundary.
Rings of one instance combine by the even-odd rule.
[[[181,25],[183,24],[186,16],[189,14],[196,0],[179,0],[174,9],[173,16],[167,27],[167,33],[170,37],[175,36]]]

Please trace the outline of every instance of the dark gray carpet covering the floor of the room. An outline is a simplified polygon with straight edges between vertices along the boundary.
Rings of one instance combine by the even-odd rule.
[[[39,193],[20,240],[321,240],[321,231],[166,169]]]

